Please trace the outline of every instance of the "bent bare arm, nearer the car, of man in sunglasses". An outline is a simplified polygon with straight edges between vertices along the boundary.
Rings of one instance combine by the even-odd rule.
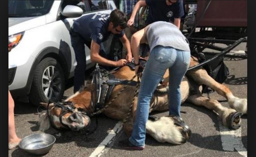
[[[125,59],[120,59],[119,61],[111,61],[100,56],[99,53],[100,53],[100,45],[97,44],[94,40],[92,40],[91,48],[90,48],[90,56],[91,56],[92,62],[96,62],[105,66],[123,66],[124,64],[126,64]]]

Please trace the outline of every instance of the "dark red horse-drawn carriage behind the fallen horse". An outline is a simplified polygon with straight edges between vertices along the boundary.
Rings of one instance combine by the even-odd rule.
[[[246,42],[245,56],[238,57],[247,57],[247,1],[185,0],[184,3],[191,7],[182,32],[189,40],[191,54],[200,62],[188,70],[203,66],[211,77],[223,83],[229,75],[224,56]],[[203,92],[210,91],[204,86]]]

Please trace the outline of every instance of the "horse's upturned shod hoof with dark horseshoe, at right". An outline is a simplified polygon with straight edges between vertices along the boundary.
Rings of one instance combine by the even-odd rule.
[[[242,115],[241,112],[233,112],[227,117],[227,126],[230,129],[238,129],[240,128],[240,116]]]

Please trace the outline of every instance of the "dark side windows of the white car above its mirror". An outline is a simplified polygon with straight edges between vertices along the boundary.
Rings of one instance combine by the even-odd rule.
[[[92,1],[92,0],[88,0],[88,1],[84,1],[84,0],[64,0],[62,3],[62,10],[64,9],[64,7],[66,7],[67,5],[75,5],[78,6],[80,8],[82,8],[83,12],[93,12],[93,11],[99,11],[99,10],[105,10],[108,9],[107,7],[107,2],[106,0],[98,0],[98,1]]]

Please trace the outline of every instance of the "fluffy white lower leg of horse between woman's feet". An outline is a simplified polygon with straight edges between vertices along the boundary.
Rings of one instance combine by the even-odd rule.
[[[183,144],[187,141],[181,130],[174,124],[174,121],[168,117],[161,117],[156,121],[148,120],[146,132],[158,142]]]

